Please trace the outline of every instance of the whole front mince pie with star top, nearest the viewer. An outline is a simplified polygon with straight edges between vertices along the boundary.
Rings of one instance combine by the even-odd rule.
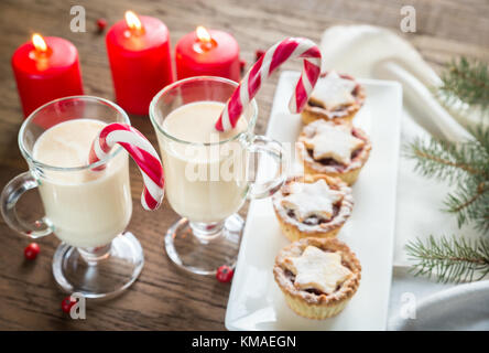
[[[304,238],[283,248],[273,276],[289,307],[309,319],[338,314],[356,293],[361,266],[336,238]]]

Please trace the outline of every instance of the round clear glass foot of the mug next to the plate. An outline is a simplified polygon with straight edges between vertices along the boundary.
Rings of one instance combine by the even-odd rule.
[[[182,218],[165,235],[166,255],[178,267],[196,275],[215,275],[222,265],[233,266],[238,257],[243,220],[233,214],[213,235],[194,234],[196,225]]]

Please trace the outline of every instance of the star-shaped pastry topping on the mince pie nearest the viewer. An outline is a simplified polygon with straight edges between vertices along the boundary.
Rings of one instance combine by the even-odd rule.
[[[351,275],[341,265],[340,253],[326,253],[315,246],[307,246],[300,257],[285,258],[285,265],[295,275],[296,288],[317,289],[326,295],[336,291]]]

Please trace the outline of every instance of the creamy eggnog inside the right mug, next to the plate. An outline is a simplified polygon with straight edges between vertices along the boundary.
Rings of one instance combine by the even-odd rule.
[[[247,156],[239,141],[222,145],[247,130],[239,119],[235,129],[218,132],[216,124],[224,104],[195,101],[171,111],[162,128],[180,143],[157,135],[172,207],[193,222],[220,222],[237,212],[246,197]],[[202,143],[211,143],[203,146]]]

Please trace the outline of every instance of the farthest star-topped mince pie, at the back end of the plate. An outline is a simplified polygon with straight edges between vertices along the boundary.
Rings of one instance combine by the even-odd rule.
[[[350,122],[363,105],[365,97],[365,88],[351,76],[334,71],[324,73],[302,113],[302,119],[305,124],[317,119]]]

